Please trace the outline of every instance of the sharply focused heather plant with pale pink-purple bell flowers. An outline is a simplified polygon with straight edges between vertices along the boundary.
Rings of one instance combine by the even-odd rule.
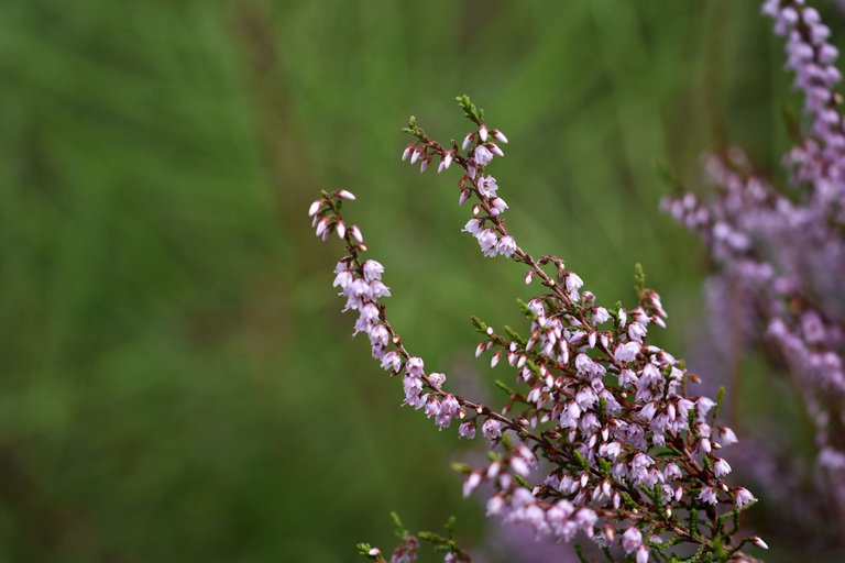
[[[504,156],[507,139],[468,97],[458,101],[473,123],[460,143],[430,139],[410,118],[405,132],[413,141],[402,158],[421,172],[432,164],[438,173],[458,168],[459,203],[472,216],[463,231],[485,256],[525,268],[526,285],[537,288],[520,302],[522,332],[472,319],[480,334],[475,355],[489,355],[491,366],[505,364],[512,374],[509,383],[497,382],[504,405],[452,393],[445,374],[427,369],[406,347],[381,302],[391,295],[384,267],[366,256],[361,229],[344,214],[355,197],[339,189],[323,192],[309,216],[318,236],[337,234],[344,244],[334,286],[345,298],[344,311],[356,311],[355,334],[366,334],[373,357],[402,380],[403,405],[440,430],[457,426],[460,438],[481,433],[489,462],[456,468],[464,474],[464,496],[484,492],[489,516],[527,526],[537,538],[588,538],[612,561],[750,561],[743,549],[766,544],[739,534],[740,512],[756,499],[727,479],[732,468],[722,449],[737,438],[718,422],[724,393],[715,400],[696,395],[700,378],[649,341],[650,330],[666,327],[667,313],[641,268],[636,303],[606,307],[561,257],[535,257],[517,243],[489,172]],[[420,536],[400,538],[389,561],[416,561]],[[451,540],[435,543],[445,561],[469,559]],[[359,549],[386,561],[377,548]]]

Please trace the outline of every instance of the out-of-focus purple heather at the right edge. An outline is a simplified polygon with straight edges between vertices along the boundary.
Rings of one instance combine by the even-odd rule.
[[[803,95],[803,126],[783,159],[786,189],[738,148],[707,158],[715,189],[669,198],[666,209],[701,235],[714,331],[729,356],[762,345],[786,367],[814,423],[822,492],[845,526],[845,121],[831,31],[803,1],[768,0]],[[775,484],[772,484],[775,485]]]

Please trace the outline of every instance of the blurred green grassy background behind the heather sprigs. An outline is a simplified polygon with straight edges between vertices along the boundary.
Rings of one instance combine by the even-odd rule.
[[[469,93],[511,140],[494,174],[523,245],[607,305],[641,262],[660,343],[718,380],[694,364],[699,243],[651,163],[700,186],[731,143],[777,172],[782,62],[751,1],[0,1],[0,560],[352,561],[395,509],[516,561],[449,470],[480,450],[399,409],[351,339],[308,205],[358,195],[406,343],[494,398],[469,317],[518,323],[524,273],[461,235],[457,173],[399,162],[410,113],[460,139]],[[780,420],[812,460],[755,365],[738,430]],[[770,561],[809,553],[782,507],[754,512]]]

